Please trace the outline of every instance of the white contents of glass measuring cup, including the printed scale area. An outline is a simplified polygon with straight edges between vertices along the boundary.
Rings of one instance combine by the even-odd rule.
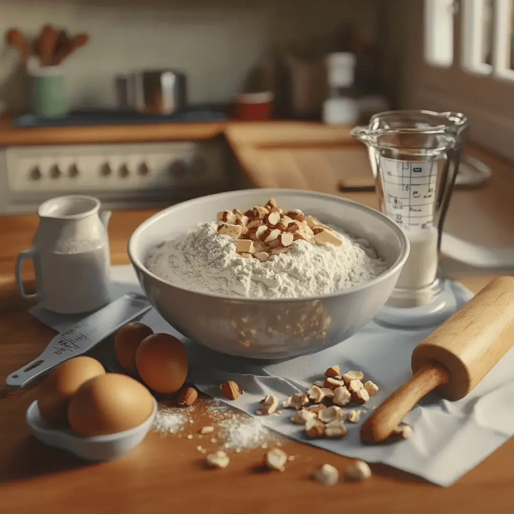
[[[423,288],[434,282],[438,266],[438,231],[434,226],[437,164],[380,157],[383,209],[402,227],[410,253],[397,288]]]

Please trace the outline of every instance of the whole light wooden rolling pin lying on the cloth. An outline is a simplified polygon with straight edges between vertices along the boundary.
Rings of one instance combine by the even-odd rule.
[[[362,442],[386,440],[436,388],[449,400],[464,398],[512,346],[514,277],[499,277],[414,348],[413,377],[366,419]]]

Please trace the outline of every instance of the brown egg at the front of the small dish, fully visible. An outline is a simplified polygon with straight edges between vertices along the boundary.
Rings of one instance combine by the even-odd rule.
[[[107,373],[89,380],[68,407],[71,429],[84,436],[123,432],[152,414],[154,401],[143,384],[126,375]]]

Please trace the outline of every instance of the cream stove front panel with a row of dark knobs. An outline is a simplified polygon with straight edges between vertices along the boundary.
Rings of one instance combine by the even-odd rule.
[[[230,170],[222,138],[0,148],[0,213],[33,212],[78,193],[111,209],[171,204],[232,189]]]

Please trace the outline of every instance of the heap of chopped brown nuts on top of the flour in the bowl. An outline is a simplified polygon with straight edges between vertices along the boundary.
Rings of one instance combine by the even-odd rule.
[[[266,262],[270,255],[286,253],[298,240],[316,245],[342,245],[332,227],[298,209],[284,214],[274,198],[266,205],[256,205],[244,213],[238,209],[218,212],[216,218],[218,234],[232,237],[235,251],[245,259],[253,257]]]

